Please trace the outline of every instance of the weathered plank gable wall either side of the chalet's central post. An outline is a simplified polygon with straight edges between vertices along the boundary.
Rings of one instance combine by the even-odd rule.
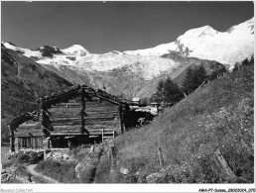
[[[54,127],[52,134],[79,133],[80,130],[80,104],[79,100],[69,100],[51,108],[51,121]],[[120,132],[120,119],[118,106],[107,101],[85,101],[85,129],[93,135],[101,134],[102,129],[111,129]]]

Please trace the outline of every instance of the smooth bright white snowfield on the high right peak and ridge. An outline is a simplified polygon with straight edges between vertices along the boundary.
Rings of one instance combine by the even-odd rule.
[[[186,32],[177,40],[192,50],[190,56],[216,60],[229,64],[232,68],[235,62],[250,57],[254,53],[254,17],[231,27],[226,32],[218,32],[209,26],[204,26]],[[172,42],[155,48],[124,52],[127,54],[163,55],[169,50],[178,50],[178,45]]]

